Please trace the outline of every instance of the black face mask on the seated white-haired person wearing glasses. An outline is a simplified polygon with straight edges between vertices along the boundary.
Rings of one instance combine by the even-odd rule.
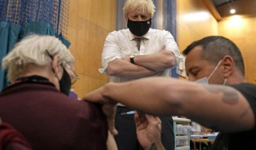
[[[71,79],[64,68],[63,68],[62,78],[60,79],[59,84],[60,84],[60,92],[68,96],[71,88]]]

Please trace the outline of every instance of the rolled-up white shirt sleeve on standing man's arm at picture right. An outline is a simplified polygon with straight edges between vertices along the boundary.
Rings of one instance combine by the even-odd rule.
[[[165,50],[172,51],[172,53],[174,54],[176,59],[176,65],[173,66],[173,68],[176,67],[181,62],[182,57],[180,56],[180,50],[177,46],[177,43],[175,42],[171,33],[168,31],[165,32],[163,45],[165,45]]]

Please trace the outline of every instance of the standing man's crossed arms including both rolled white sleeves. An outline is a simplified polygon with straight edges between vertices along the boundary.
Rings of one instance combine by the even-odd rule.
[[[152,51],[154,54],[136,55],[135,64],[133,64],[130,62],[129,56],[122,57],[120,43],[118,43],[120,39],[114,33],[110,33],[105,40],[102,51],[102,66],[107,66],[106,71],[110,76],[125,78],[149,76],[174,67],[177,65],[175,55],[180,55],[180,52],[170,32],[163,34],[164,36],[159,37],[163,46],[154,49]]]

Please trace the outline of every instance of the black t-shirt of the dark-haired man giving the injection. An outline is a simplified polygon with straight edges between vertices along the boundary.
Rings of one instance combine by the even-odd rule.
[[[230,85],[240,91],[250,103],[256,120],[256,85]],[[256,126],[250,131],[223,133],[215,139],[212,150],[256,150]]]

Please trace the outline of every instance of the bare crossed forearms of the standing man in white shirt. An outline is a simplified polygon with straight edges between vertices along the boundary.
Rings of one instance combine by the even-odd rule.
[[[165,50],[165,47],[156,54],[136,55],[134,62],[135,64],[131,63],[129,57],[113,60],[107,66],[107,73],[111,76],[136,78],[155,74],[176,65],[173,53]]]

